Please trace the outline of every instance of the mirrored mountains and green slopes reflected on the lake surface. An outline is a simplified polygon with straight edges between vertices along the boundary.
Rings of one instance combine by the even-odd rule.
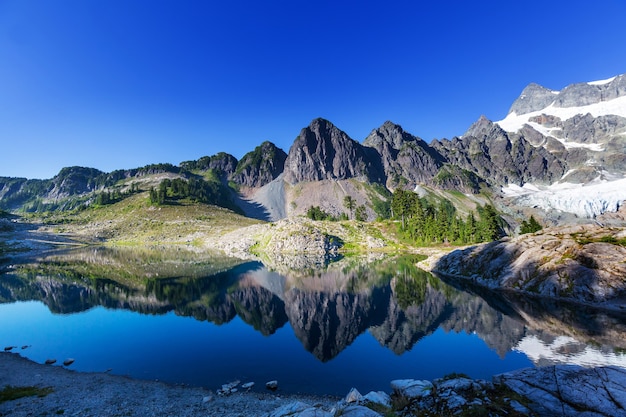
[[[18,265],[0,276],[0,302],[38,300],[59,314],[174,312],[217,325],[239,317],[264,336],[288,323],[323,363],[366,332],[403,355],[442,329],[476,334],[501,358],[517,351],[541,365],[626,366],[623,317],[446,283],[417,260],[292,257],[267,268],[184,250],[89,248]]]

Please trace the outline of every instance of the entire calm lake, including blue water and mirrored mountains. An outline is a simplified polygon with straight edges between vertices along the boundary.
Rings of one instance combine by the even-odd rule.
[[[282,392],[333,395],[452,372],[626,367],[624,317],[464,288],[416,260],[56,253],[0,275],[0,348],[74,358],[78,371],[210,389],[276,379]]]

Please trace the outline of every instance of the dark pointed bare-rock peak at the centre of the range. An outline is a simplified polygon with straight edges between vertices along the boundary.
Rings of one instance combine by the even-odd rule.
[[[325,119],[315,119],[300,132],[285,160],[285,180],[380,179],[380,170],[364,146]]]

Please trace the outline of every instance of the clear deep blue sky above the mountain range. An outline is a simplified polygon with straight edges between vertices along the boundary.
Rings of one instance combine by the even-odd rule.
[[[0,0],[0,176],[178,164],[329,119],[430,141],[626,72],[626,2]]]

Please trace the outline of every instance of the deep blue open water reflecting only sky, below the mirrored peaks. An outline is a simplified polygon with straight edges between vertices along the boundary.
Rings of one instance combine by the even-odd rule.
[[[389,390],[398,378],[434,379],[452,372],[488,378],[532,366],[525,355],[504,358],[475,334],[441,329],[399,356],[371,334],[361,334],[328,362],[307,352],[289,324],[271,336],[235,318],[215,325],[167,313],[143,315],[96,307],[69,315],[52,314],[41,302],[0,305],[0,346],[18,346],[36,362],[56,358],[71,369],[159,379],[218,388],[239,379],[262,385],[276,379],[282,391],[343,395]],[[22,350],[21,346],[29,345]]]

